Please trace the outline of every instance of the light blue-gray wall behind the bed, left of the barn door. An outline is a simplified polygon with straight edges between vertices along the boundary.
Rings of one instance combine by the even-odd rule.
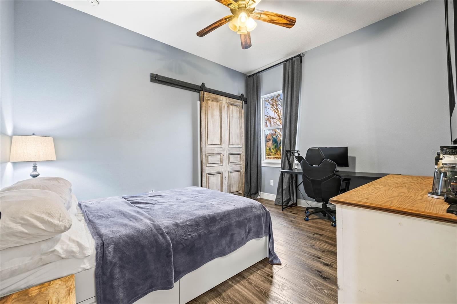
[[[79,199],[198,185],[199,94],[149,73],[234,94],[244,74],[52,1],[16,1],[15,24],[15,135],[53,136],[58,159],[38,172]]]

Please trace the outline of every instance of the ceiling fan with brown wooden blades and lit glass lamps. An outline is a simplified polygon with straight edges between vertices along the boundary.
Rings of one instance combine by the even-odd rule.
[[[291,16],[281,15],[266,10],[254,10],[255,6],[259,4],[261,0],[216,0],[219,3],[228,6],[232,15],[225,16],[218,21],[210,24],[201,31],[197,32],[198,37],[203,37],[206,34],[214,31],[220,26],[228,23],[228,27],[232,31],[236,31],[241,38],[241,48],[247,49],[252,46],[250,31],[254,30],[257,26],[254,19],[276,24],[278,26],[284,26],[291,28],[295,25],[296,19]]]

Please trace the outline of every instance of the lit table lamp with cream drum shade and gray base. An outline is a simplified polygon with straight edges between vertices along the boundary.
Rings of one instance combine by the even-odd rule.
[[[37,162],[56,160],[54,139],[50,136],[32,135],[13,136],[11,141],[10,162],[33,162],[32,178],[38,177]]]

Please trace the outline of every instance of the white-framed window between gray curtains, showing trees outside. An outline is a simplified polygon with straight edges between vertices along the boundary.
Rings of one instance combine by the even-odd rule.
[[[262,164],[281,165],[282,91],[261,98],[262,103]]]

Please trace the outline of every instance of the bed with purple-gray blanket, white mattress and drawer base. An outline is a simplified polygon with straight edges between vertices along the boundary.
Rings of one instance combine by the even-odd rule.
[[[76,303],[97,303],[97,295],[101,299],[98,303],[186,303],[266,257],[271,263],[280,263],[274,253],[270,214],[263,205],[251,199],[187,187],[82,201],[79,207],[78,220],[86,223],[90,231],[88,235],[94,241],[90,256],[61,259],[13,278],[2,279],[2,296],[75,273]],[[151,215],[154,216],[155,226],[143,230],[150,233],[150,230],[163,228],[164,240],[172,243],[171,268],[166,262],[170,258],[166,254],[168,245],[160,244],[164,247],[151,251],[154,255],[143,256],[149,254],[148,248],[158,245],[141,240],[150,238],[142,236],[143,231],[129,232],[129,225],[136,225],[137,216],[149,219]],[[122,219],[126,218],[129,220],[122,223]],[[106,230],[106,227],[109,229]],[[140,235],[141,241],[135,240],[136,234]],[[159,240],[160,237],[160,234],[154,235]],[[122,241],[118,242],[119,239]],[[147,253],[141,247],[143,245]],[[122,252],[124,247],[135,249],[133,252],[129,249],[125,255]],[[142,255],[135,256],[138,252]],[[121,260],[122,266],[118,267]],[[137,266],[142,263],[143,266]],[[124,267],[124,264],[127,266]],[[143,269],[150,265],[156,266]],[[167,267],[171,271],[163,271]],[[109,269],[110,273],[104,269]],[[115,271],[112,272],[112,269]],[[158,272],[165,275],[157,281],[153,277]],[[131,293],[133,289],[138,290]],[[111,294],[115,294],[114,298],[109,298]]]

